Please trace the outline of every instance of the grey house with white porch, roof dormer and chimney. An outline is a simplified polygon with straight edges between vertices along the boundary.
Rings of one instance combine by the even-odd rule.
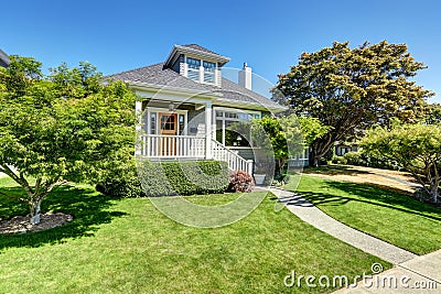
[[[284,107],[251,90],[244,64],[239,85],[222,76],[229,58],[197,44],[174,45],[164,63],[108,76],[142,97],[143,133],[136,155],[151,160],[214,159],[252,173],[254,150],[228,126],[281,112]]]

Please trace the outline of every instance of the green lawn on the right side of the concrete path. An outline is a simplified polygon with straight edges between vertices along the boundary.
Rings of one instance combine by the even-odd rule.
[[[287,185],[295,190],[294,185]],[[441,209],[376,186],[302,175],[297,192],[331,217],[417,254],[441,248]]]

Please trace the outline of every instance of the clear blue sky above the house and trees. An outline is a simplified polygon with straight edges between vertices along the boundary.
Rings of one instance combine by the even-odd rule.
[[[173,44],[197,43],[247,62],[271,83],[302,52],[333,41],[407,43],[429,68],[416,78],[441,102],[441,1],[2,1],[0,48],[45,68],[88,61],[104,74],[163,62]]]

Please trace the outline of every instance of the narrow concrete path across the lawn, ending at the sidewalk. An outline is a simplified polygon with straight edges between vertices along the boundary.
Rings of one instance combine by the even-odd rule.
[[[409,251],[389,244],[335,220],[306,199],[292,192],[278,188],[270,188],[270,190],[281,203],[287,205],[287,208],[291,213],[303,221],[367,253],[394,264],[399,264],[417,257]]]

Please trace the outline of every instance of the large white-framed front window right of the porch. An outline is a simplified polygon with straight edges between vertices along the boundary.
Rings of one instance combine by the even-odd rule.
[[[260,118],[258,112],[245,112],[239,110],[216,110],[216,140],[226,146],[249,146],[247,138],[237,131],[240,122],[247,122],[251,119]]]

